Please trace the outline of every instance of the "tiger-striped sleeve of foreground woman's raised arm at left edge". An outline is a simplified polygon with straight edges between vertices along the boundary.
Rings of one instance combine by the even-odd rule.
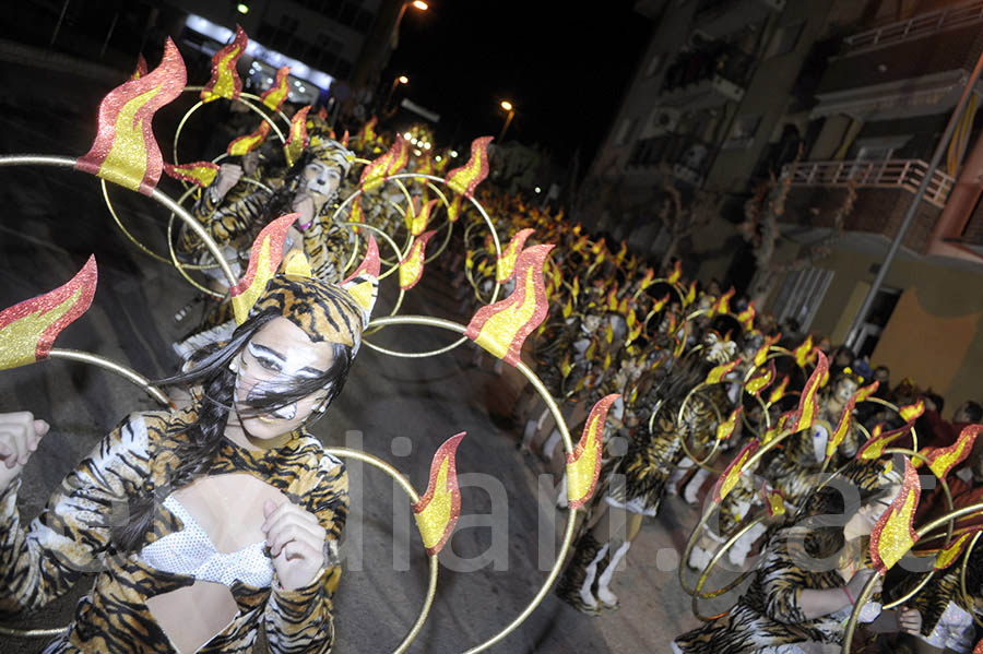
[[[35,610],[103,567],[114,513],[150,474],[141,416],[125,419],[61,481],[24,528],[16,508],[20,478],[0,497],[0,616]]]

